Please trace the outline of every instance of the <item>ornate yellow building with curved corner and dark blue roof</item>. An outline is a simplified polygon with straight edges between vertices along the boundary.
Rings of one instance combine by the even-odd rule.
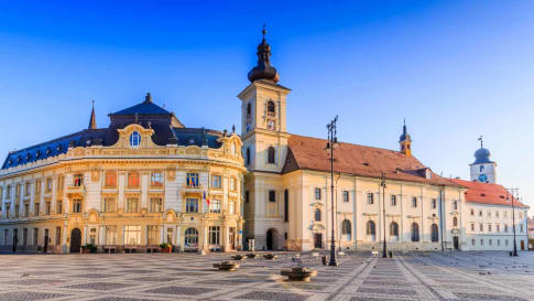
[[[0,170],[0,246],[77,252],[241,247],[241,140],[185,128],[150,94],[89,128],[10,152]],[[47,243],[46,243],[47,240]]]

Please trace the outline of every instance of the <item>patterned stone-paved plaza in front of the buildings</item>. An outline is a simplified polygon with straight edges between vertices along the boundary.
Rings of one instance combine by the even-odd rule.
[[[534,300],[534,252],[353,254],[339,268],[305,255],[309,283],[280,276],[293,256],[221,272],[228,254],[0,255],[0,300]]]

